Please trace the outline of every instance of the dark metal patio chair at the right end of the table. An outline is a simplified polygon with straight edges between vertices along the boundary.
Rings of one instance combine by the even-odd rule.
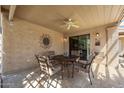
[[[89,80],[90,80],[90,84],[91,85],[92,85],[92,81],[91,81],[91,75],[90,75],[90,73],[92,73],[92,76],[94,78],[92,67],[91,67],[94,58],[95,58],[95,55],[94,54],[91,54],[88,61],[80,62],[79,59],[76,61],[76,66],[78,68],[78,71],[83,71],[85,73],[88,73],[88,77],[89,77]]]

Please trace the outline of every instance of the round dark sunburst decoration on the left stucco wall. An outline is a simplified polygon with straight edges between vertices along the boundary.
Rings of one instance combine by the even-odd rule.
[[[50,48],[52,46],[52,39],[49,34],[43,34],[40,37],[40,45],[42,48]]]

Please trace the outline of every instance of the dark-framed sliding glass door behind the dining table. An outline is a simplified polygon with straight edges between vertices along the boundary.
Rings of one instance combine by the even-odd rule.
[[[90,55],[90,34],[70,37],[69,53],[70,55],[80,56],[82,60],[88,60]]]

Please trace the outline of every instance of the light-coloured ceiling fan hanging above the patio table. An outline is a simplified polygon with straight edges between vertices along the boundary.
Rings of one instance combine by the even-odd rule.
[[[76,21],[72,20],[71,18],[64,20],[64,25],[67,27],[67,30],[70,30],[72,27],[79,28],[79,25],[76,24]]]

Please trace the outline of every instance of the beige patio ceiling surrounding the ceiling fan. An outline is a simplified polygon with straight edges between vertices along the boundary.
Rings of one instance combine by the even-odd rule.
[[[15,15],[18,18],[42,25],[46,28],[62,32],[73,33],[117,22],[124,6],[16,6]],[[77,22],[79,28],[67,30],[63,26],[64,19],[71,18]]]

